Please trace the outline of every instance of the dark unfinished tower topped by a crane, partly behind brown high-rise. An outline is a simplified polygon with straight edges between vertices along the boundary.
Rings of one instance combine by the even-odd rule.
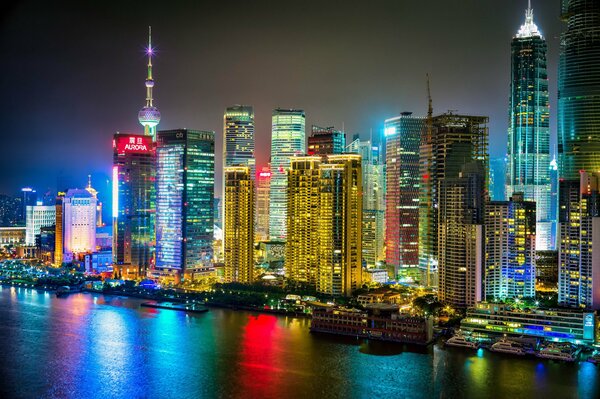
[[[431,116],[428,120],[429,126],[421,143],[419,267],[426,274],[424,282],[436,286],[439,263],[438,213],[441,201],[439,184],[442,179],[458,177],[466,163],[481,161],[486,171],[487,195],[488,118],[448,112]]]

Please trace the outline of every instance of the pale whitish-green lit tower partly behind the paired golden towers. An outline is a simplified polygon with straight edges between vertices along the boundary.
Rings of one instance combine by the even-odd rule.
[[[287,209],[287,170],[290,158],[306,151],[305,115],[299,109],[273,110],[271,127],[271,192],[269,236],[285,239]]]

